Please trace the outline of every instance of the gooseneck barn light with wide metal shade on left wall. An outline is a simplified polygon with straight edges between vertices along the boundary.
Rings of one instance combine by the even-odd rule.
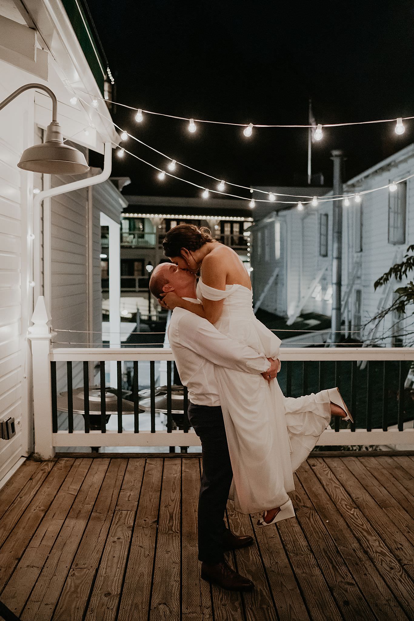
[[[17,166],[22,170],[47,175],[81,175],[81,173],[88,172],[89,166],[83,153],[63,143],[61,128],[57,120],[58,101],[50,88],[43,84],[24,84],[0,102],[0,110],[30,88],[45,91],[52,99],[52,123],[47,127],[45,142],[25,149]]]

